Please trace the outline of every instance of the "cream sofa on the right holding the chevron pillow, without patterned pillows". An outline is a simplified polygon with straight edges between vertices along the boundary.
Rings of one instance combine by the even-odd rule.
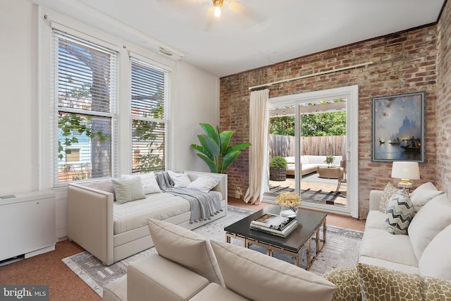
[[[380,210],[387,194],[388,187],[370,192],[359,262],[451,281],[450,199],[432,183],[416,188],[410,195],[416,213],[408,234],[393,235],[387,231],[385,213]]]

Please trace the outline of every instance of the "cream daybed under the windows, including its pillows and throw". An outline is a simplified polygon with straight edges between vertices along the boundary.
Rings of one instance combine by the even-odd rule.
[[[103,264],[110,265],[154,245],[147,227],[149,218],[193,229],[226,215],[227,175],[194,171],[171,175],[166,180],[171,180],[173,185],[166,190],[157,183],[158,173],[70,184],[68,238]],[[205,193],[214,198],[216,208],[210,210],[214,212],[209,214],[209,208],[205,207],[194,210],[198,207],[197,199],[187,200],[185,195],[175,193],[187,187],[209,191]],[[118,199],[118,188],[121,188],[121,199]],[[131,201],[123,202],[124,199]],[[194,219],[193,214],[197,216]]]

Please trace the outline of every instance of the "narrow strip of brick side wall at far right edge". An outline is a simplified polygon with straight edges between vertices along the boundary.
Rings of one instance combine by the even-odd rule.
[[[437,58],[437,186],[451,193],[451,3],[438,23]]]

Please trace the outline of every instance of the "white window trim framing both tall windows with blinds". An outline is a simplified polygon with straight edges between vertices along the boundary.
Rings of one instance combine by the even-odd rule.
[[[112,177],[118,177],[123,173],[130,174],[132,172],[132,148],[131,148],[131,77],[130,77],[130,55],[144,59],[158,68],[163,68],[170,72],[169,87],[168,87],[168,102],[167,119],[165,129],[165,166],[168,167],[167,162],[171,162],[171,98],[173,90],[171,82],[174,77],[175,61],[166,59],[163,56],[156,54],[149,49],[143,49],[132,42],[111,35],[109,33],[97,30],[94,27],[81,23],[77,20],[63,16],[61,13],[56,13],[43,6],[37,7],[38,15],[38,29],[37,29],[37,122],[38,129],[37,142],[38,150],[35,154],[39,168],[37,168],[37,189],[51,189],[60,190],[66,189],[67,183],[57,183],[57,157],[56,145],[58,143],[58,127],[54,122],[57,113],[52,108],[54,100],[51,98],[56,93],[54,87],[51,85],[52,70],[51,70],[51,43],[53,41],[52,28],[63,27],[69,30],[71,34],[77,37],[92,40],[101,46],[114,49],[118,51],[118,94],[116,112],[113,115],[115,128],[114,133],[117,135],[116,147],[113,146],[112,152],[113,161],[116,164],[112,166]],[[56,125],[56,126],[55,126]],[[119,149],[120,148],[120,149]],[[56,158],[56,159],[55,159]],[[96,180],[96,179],[90,179]],[[78,182],[81,182],[78,181]],[[77,182],[77,183],[78,183]]]

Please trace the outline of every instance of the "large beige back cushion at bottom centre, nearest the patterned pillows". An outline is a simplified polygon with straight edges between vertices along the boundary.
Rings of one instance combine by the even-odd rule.
[[[330,300],[335,291],[323,277],[266,254],[216,240],[211,247],[226,288],[249,300]]]

